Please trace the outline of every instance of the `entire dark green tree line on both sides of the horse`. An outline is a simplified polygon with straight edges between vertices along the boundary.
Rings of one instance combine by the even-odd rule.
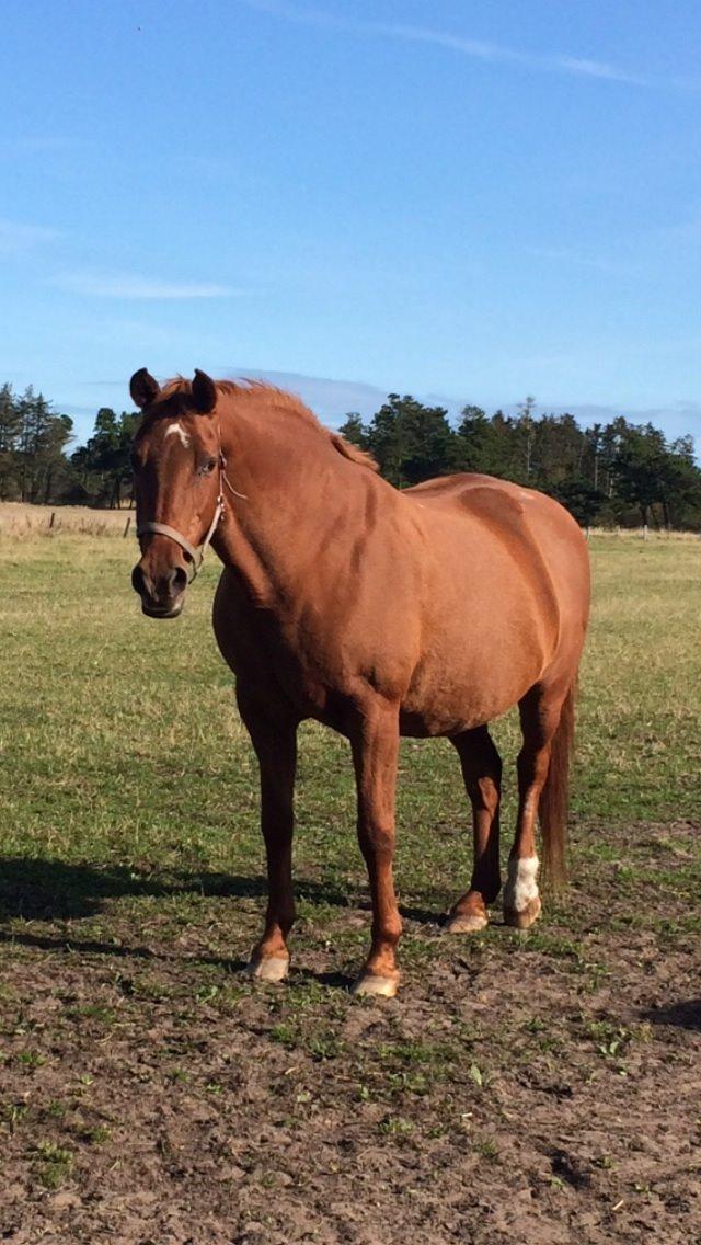
[[[72,452],[72,420],[29,387],[0,388],[0,500],[120,507],[131,503],[131,443],[139,413],[102,407]],[[451,423],[441,406],[390,393],[367,422],[350,413],[342,435],[377,459],[397,488],[432,476],[482,472],[542,489],[590,525],[655,524],[701,530],[701,469],[690,436],[667,439],[623,416],[581,428],[572,415],[515,415],[466,406]]]

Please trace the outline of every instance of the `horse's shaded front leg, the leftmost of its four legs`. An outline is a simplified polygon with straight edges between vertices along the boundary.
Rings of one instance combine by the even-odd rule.
[[[290,966],[288,935],[295,919],[293,895],[294,783],[296,721],[258,711],[239,691],[239,708],[260,767],[260,828],[268,858],[268,911],[263,937],[250,954],[249,971],[281,981]]]

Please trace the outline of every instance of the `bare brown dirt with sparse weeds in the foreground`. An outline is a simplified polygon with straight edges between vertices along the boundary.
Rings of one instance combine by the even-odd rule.
[[[283,986],[237,966],[255,888],[188,920],[10,913],[0,1239],[701,1241],[697,833],[620,832],[636,875],[584,854],[527,936],[410,918],[385,1002],[346,989],[364,909],[310,904]]]

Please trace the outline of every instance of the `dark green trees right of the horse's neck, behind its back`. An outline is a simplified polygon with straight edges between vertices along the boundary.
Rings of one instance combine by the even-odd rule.
[[[651,423],[618,416],[581,428],[572,415],[537,415],[527,397],[517,415],[466,406],[453,427],[443,407],[390,393],[369,423],[349,415],[340,431],[370,451],[397,488],[482,472],[549,493],[585,527],[701,528],[694,439],[669,441]]]

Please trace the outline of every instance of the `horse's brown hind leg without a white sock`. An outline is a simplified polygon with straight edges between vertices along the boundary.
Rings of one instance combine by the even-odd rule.
[[[464,787],[472,803],[474,867],[469,890],[451,910],[448,934],[473,934],[487,925],[487,905],[501,889],[499,786],[502,759],[486,726],[456,735]]]

